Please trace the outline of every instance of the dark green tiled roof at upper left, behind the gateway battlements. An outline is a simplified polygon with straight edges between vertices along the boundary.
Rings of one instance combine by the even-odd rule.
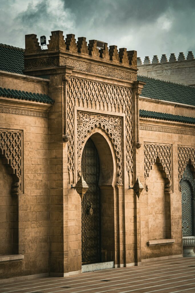
[[[24,49],[0,44],[0,70],[23,74]]]

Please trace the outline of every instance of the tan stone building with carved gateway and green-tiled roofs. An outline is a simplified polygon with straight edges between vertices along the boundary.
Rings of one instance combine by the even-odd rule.
[[[195,235],[195,87],[97,45],[0,45],[1,279],[178,257]]]

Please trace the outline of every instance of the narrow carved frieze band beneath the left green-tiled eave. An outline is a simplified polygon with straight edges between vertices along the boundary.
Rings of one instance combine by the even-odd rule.
[[[8,107],[0,107],[0,113],[22,115],[22,116],[31,116],[31,117],[39,117],[39,118],[48,118],[48,113],[47,112],[23,110],[23,109],[8,108]]]

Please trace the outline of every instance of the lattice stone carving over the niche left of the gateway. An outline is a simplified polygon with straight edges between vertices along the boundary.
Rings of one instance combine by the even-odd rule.
[[[22,131],[0,129],[0,156],[13,174],[12,194],[23,191]]]

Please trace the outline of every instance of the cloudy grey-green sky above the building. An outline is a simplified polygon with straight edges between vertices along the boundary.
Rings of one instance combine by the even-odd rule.
[[[195,55],[195,0],[0,0],[0,42],[25,47],[62,30],[144,56]]]

